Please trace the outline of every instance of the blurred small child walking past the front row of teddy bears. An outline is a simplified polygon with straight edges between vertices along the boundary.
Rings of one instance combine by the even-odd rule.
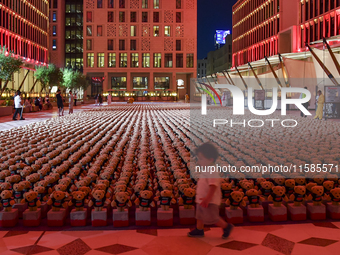
[[[218,158],[218,151],[210,143],[204,143],[196,150],[197,165],[202,167],[212,166]],[[196,186],[196,229],[188,233],[189,237],[203,237],[204,224],[217,225],[223,229],[222,238],[227,238],[233,229],[232,224],[226,223],[219,216],[221,204],[221,178],[219,173],[200,173]]]

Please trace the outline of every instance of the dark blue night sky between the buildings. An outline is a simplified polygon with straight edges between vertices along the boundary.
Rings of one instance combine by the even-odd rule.
[[[197,0],[197,54],[205,58],[214,50],[215,30],[232,32],[232,6],[237,0]]]

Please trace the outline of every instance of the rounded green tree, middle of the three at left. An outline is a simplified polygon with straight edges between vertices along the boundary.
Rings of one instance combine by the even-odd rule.
[[[59,85],[63,81],[63,73],[53,64],[46,66],[38,66],[35,68],[35,78],[40,81],[41,91],[50,92],[53,85]]]

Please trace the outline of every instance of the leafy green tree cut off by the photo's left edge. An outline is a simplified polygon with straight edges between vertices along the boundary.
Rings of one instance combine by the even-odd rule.
[[[0,51],[0,80],[5,81],[5,85],[1,89],[1,96],[8,82],[12,81],[13,73],[20,71],[23,61],[16,58],[12,52],[8,52],[6,47],[1,48],[0,46]]]

